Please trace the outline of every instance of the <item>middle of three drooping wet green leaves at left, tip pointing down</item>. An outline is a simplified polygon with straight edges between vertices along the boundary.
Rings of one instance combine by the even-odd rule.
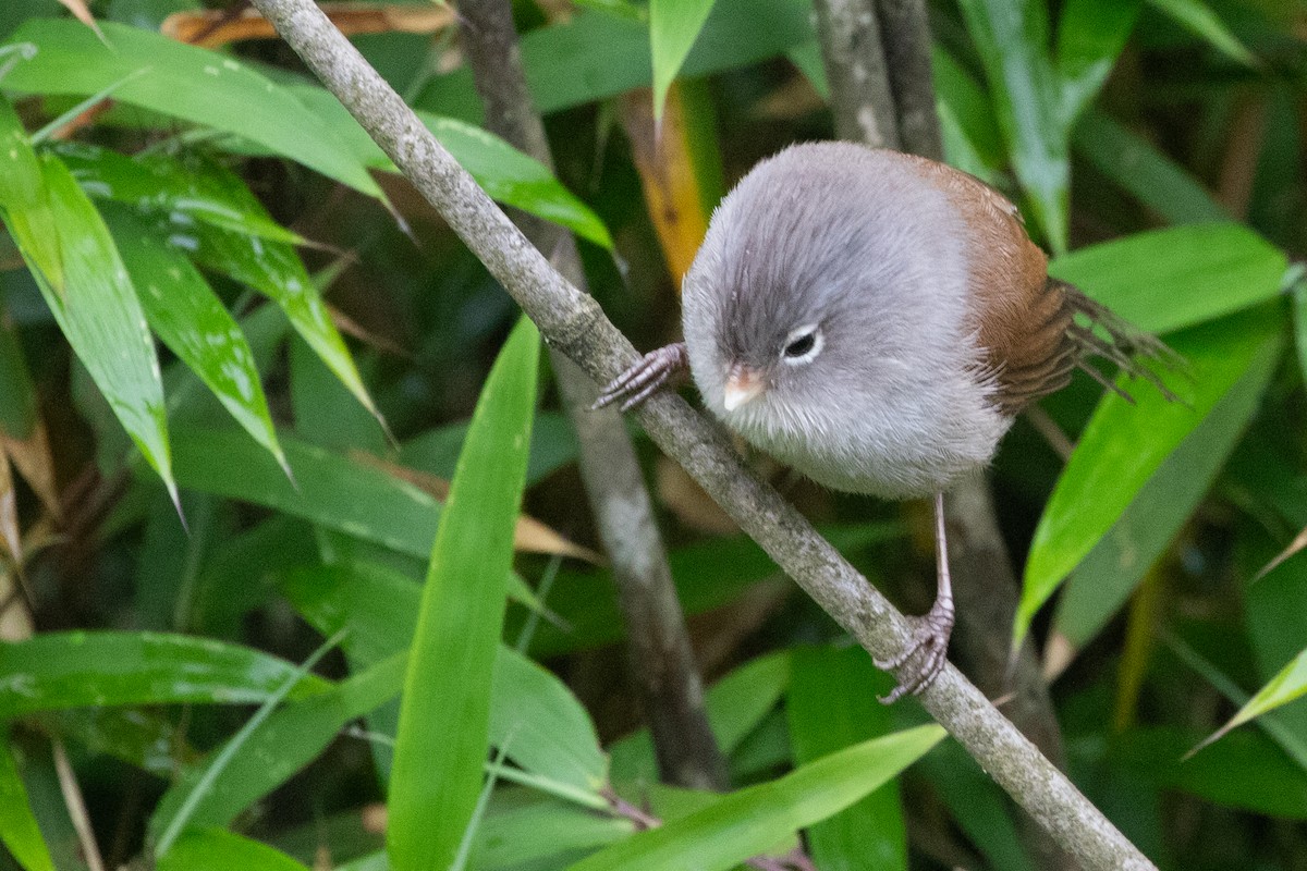
[[[285,469],[254,353],[222,300],[190,260],[125,209],[105,217],[150,326]]]

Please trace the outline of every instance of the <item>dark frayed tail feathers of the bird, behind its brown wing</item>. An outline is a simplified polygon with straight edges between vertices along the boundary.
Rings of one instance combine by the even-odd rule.
[[[1068,330],[1070,340],[1080,347],[1077,366],[1084,372],[1127,402],[1133,404],[1134,397],[1085,360],[1089,355],[1100,356],[1115,363],[1131,377],[1141,377],[1151,383],[1167,400],[1180,401],[1166,385],[1162,372],[1187,372],[1188,362],[1183,356],[1155,336],[1145,333],[1107,306],[1086,296],[1080,287],[1056,278],[1048,281],[1061,289],[1072,309],[1087,321],[1087,325],[1076,323]]]

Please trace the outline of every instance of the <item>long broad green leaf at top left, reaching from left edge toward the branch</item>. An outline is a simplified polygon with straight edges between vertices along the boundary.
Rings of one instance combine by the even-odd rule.
[[[34,44],[37,55],[9,72],[5,87],[85,97],[118,85],[115,101],[248,138],[383,197],[367,170],[285,87],[231,56],[111,21],[102,25],[107,44],[76,21],[25,22],[10,42]]]

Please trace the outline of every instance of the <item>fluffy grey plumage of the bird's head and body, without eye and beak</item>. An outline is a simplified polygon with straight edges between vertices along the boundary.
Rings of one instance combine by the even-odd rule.
[[[844,142],[758,163],[721,201],[682,291],[706,406],[829,487],[948,490],[992,458],[1012,417],[967,304],[971,235],[924,163]],[[786,356],[796,330],[817,353]],[[725,407],[731,367],[763,384]]]

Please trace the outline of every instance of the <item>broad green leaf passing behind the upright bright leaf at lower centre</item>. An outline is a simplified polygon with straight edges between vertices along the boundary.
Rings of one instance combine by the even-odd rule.
[[[420,588],[375,569],[322,567],[291,572],[286,598],[324,635],[348,632],[344,646],[362,663],[408,650]],[[399,686],[395,687],[399,692]],[[490,684],[490,740],[528,772],[591,791],[608,768],[586,709],[552,673],[501,645]]]

